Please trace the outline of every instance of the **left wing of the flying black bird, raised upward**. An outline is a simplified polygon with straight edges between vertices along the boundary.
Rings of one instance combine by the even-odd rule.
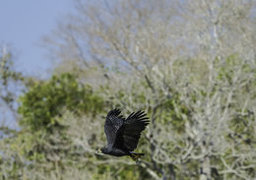
[[[124,118],[120,115],[119,109],[110,110],[106,116],[104,132],[107,140],[107,146],[113,146],[118,129],[123,125]]]

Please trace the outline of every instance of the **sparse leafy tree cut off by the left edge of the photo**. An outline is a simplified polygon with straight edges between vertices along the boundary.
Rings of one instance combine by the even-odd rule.
[[[15,70],[13,53],[6,45],[0,49],[0,178],[5,175],[17,179],[22,159],[16,151],[10,150],[8,138],[17,135],[19,120],[17,99],[24,89],[25,78]],[[12,170],[10,170],[12,169]]]

